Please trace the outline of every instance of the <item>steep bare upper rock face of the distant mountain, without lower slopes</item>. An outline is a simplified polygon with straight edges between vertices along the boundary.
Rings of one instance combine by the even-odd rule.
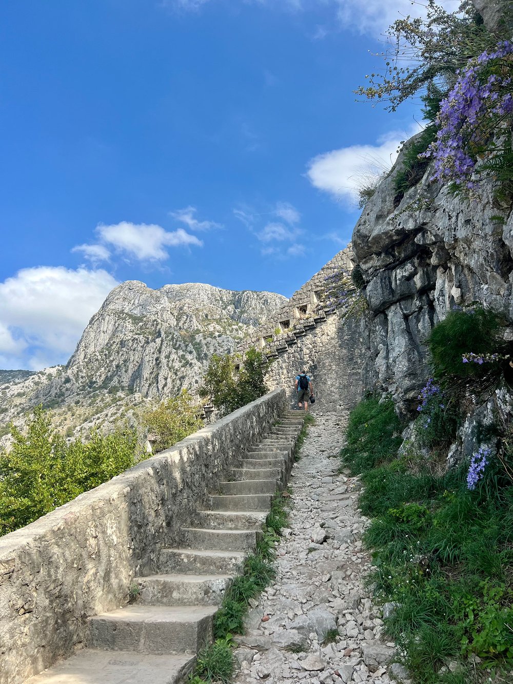
[[[192,283],[116,287],[84,330],[66,376],[77,386],[118,386],[144,397],[194,389],[211,354],[236,342],[285,300]]]

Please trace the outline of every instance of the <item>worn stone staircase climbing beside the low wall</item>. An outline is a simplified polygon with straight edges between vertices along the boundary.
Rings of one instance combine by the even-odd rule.
[[[182,529],[180,547],[161,549],[155,574],[135,578],[134,603],[90,618],[88,648],[25,684],[184,681],[212,640],[213,616],[257,543],[276,490],[287,483],[303,421],[301,412],[285,412]]]

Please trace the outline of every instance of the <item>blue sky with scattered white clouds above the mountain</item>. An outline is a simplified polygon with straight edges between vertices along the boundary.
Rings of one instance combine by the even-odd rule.
[[[65,362],[123,280],[298,289],[350,239],[362,169],[415,130],[352,92],[398,10],[3,3],[0,367]]]

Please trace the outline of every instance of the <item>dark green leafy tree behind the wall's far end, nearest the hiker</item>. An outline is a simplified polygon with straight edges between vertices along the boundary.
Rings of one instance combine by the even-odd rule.
[[[254,347],[246,353],[239,371],[235,369],[235,357],[231,354],[213,354],[200,395],[209,397],[224,415],[231,413],[267,393],[264,377],[268,367],[262,352]]]

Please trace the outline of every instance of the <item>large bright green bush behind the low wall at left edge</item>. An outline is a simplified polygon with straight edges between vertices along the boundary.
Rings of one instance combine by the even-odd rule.
[[[42,407],[34,410],[26,434],[11,427],[14,441],[0,451],[0,534],[40,516],[107,482],[135,464],[135,431],[92,432],[84,444],[66,442]]]

